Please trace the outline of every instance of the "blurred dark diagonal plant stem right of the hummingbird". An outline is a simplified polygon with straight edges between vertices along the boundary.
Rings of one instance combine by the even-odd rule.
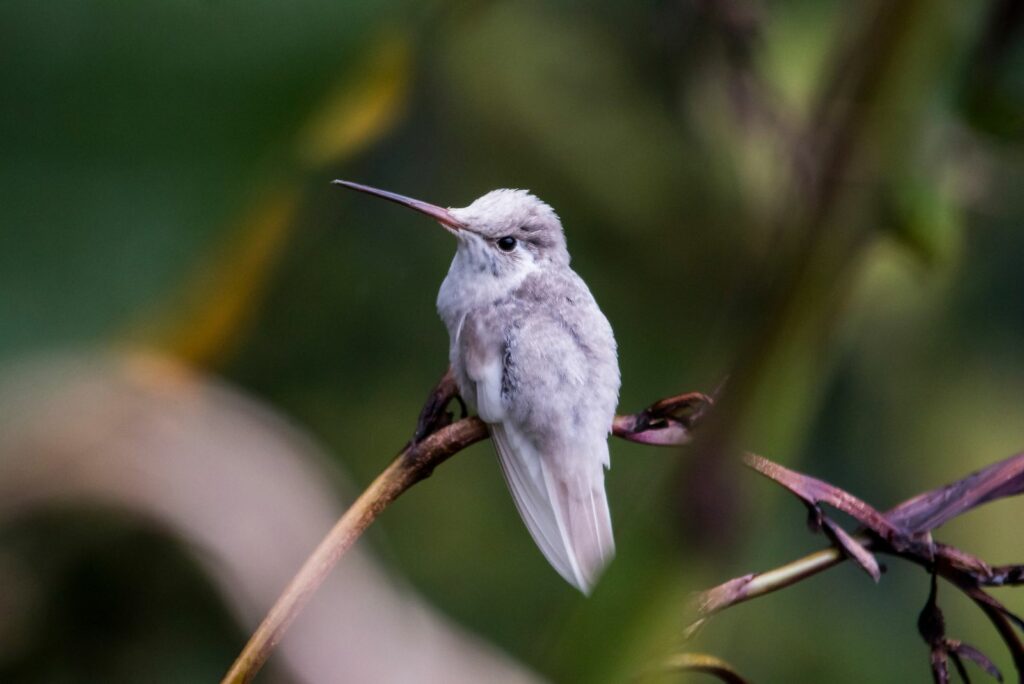
[[[751,290],[764,292],[761,313],[742,337],[728,385],[681,477],[687,491],[683,519],[710,549],[725,548],[737,532],[737,480],[725,469],[735,463],[731,457],[739,455],[755,420],[770,420],[773,388],[785,383],[799,393],[794,366],[823,366],[829,331],[877,229],[874,161],[883,152],[877,132],[914,133],[914,111],[889,104],[898,96],[894,84],[905,68],[907,46],[928,28],[925,19],[942,9],[922,0],[878,0],[843,11],[852,14],[846,19],[850,29],[824,70],[806,124],[793,138],[799,149],[791,155],[782,186],[787,200],[767,219],[772,232],[787,240],[776,241],[771,262],[752,275]],[[819,373],[806,377],[820,383]]]

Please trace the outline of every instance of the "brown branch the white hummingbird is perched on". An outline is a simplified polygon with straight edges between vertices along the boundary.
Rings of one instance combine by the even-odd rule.
[[[427,397],[413,439],[306,559],[224,675],[222,684],[252,681],[331,569],[384,509],[449,458],[487,438],[486,425],[479,418],[464,417],[452,422],[447,405],[457,398],[456,383],[449,371]],[[686,443],[693,424],[710,404],[711,399],[697,392],[668,397],[640,413],[616,416],[612,433],[643,444]]]

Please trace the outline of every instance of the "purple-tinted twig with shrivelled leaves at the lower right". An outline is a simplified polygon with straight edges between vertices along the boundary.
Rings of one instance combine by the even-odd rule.
[[[1024,646],[1017,630],[1024,631],[1024,621],[1007,609],[983,587],[1022,583],[1024,565],[993,567],[980,558],[945,544],[934,542],[932,530],[977,506],[1024,491],[1024,454],[992,464],[950,484],[913,497],[886,513],[880,513],[857,497],[824,482],[784,468],[759,456],[748,455],[746,465],[778,482],[795,494],[811,511],[813,526],[821,529],[835,547],[811,554],[769,572],[746,574],[701,593],[697,599],[699,617],[687,630],[693,634],[714,613],[757,596],[817,574],[846,558],[856,560],[878,580],[878,561],[873,553],[886,553],[927,568],[933,579],[941,576],[977,604],[993,624],[1014,659],[1018,673],[1024,675]],[[843,511],[862,528],[846,532],[827,517],[821,505]],[[934,603],[934,590],[930,602]],[[941,629],[940,629],[941,628]],[[963,672],[962,659],[977,662],[989,674],[997,672],[990,660],[976,648],[947,639],[938,606],[926,605],[920,629],[932,649],[932,668],[936,681],[947,681],[948,661]]]

